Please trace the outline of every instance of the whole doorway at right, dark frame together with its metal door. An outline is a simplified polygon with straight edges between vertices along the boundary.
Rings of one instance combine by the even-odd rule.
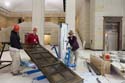
[[[104,17],[103,47],[107,51],[122,49],[122,17]]]

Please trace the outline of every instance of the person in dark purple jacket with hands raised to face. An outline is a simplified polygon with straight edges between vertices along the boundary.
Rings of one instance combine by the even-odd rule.
[[[68,34],[69,34],[68,43],[71,46],[71,61],[72,61],[72,63],[76,64],[77,56],[78,56],[78,51],[77,50],[79,48],[79,44],[78,44],[77,38],[74,35],[72,30],[70,30]],[[73,57],[74,57],[74,60],[73,60]]]

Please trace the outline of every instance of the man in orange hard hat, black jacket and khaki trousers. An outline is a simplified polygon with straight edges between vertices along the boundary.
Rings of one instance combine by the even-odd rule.
[[[13,75],[19,75],[20,73],[20,37],[19,37],[19,25],[15,24],[10,35],[10,56],[12,58],[11,73]]]

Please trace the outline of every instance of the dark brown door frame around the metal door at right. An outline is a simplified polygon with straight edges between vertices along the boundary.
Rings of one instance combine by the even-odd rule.
[[[122,50],[122,16],[104,16],[103,17],[103,50],[105,50],[105,23],[106,22],[117,22],[119,23],[118,28],[118,49]]]

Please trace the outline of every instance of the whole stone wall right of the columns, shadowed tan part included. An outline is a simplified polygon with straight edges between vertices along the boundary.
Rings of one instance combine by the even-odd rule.
[[[82,6],[77,13],[77,30],[86,48],[103,49],[104,16],[123,17],[122,49],[125,49],[125,0],[79,0]]]

